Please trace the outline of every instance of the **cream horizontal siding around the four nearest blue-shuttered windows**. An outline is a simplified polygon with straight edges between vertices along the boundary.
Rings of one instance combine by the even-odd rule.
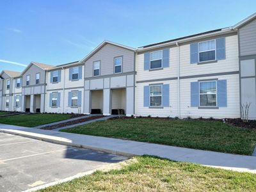
[[[196,40],[211,40],[204,38]],[[225,60],[205,62],[204,64],[190,63],[190,43],[180,44],[170,48],[170,67],[160,70],[144,70],[144,53],[136,56],[136,115],[141,116],[191,116],[198,118],[237,118],[239,110],[239,57],[238,38],[236,34],[225,36]],[[165,49],[165,48],[164,48]],[[154,50],[155,51],[155,50]],[[178,65],[180,62],[180,81],[178,81]],[[200,79],[227,80],[227,107],[218,109],[199,109],[191,107],[191,82]],[[179,83],[180,82],[180,83]],[[143,87],[150,84],[169,84],[169,107],[143,107]],[[180,84],[180,92],[179,92]],[[179,97],[179,95],[180,97]],[[180,100],[180,111],[179,111]]]

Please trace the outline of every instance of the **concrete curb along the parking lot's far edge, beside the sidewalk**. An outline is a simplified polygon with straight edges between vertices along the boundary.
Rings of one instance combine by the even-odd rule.
[[[126,153],[126,152],[122,152],[122,151],[118,151],[118,150],[110,150],[110,149],[106,149],[106,148],[92,147],[90,145],[81,145],[81,144],[76,144],[76,143],[70,143],[67,141],[53,140],[50,138],[42,138],[40,136],[32,136],[32,135],[28,135],[28,134],[21,133],[21,132],[12,132],[12,131],[6,131],[6,130],[1,130],[1,129],[0,129],[0,132],[4,132],[4,133],[8,133],[8,134],[15,134],[15,135],[19,135],[19,136],[24,136],[26,138],[31,138],[31,139],[40,140],[40,141],[47,141],[50,143],[56,143],[56,144],[60,144],[60,145],[97,150],[100,152],[118,155],[118,156],[125,156],[125,157],[137,156],[136,154],[130,154],[130,153]]]

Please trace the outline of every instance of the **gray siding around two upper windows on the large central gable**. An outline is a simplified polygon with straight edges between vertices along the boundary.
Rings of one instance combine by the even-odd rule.
[[[85,62],[85,77],[93,77],[93,61],[100,61],[100,76],[114,74],[114,58],[123,57],[122,72],[133,72],[134,52],[116,45],[106,44]]]

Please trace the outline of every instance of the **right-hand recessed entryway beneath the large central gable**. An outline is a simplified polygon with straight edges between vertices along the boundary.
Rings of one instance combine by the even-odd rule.
[[[111,90],[111,114],[125,115],[126,89],[118,88]]]

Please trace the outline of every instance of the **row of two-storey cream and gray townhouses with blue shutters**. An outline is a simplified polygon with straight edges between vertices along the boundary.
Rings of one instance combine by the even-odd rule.
[[[0,74],[0,109],[127,116],[256,118],[256,14],[134,49],[104,41],[85,58]]]

